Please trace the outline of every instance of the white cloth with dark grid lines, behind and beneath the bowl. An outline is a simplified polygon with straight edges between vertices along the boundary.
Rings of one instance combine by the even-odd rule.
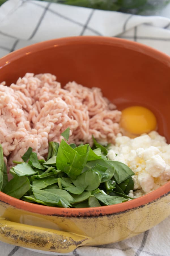
[[[137,41],[170,54],[170,19],[135,16],[33,0],[9,0],[0,7],[0,57],[24,46],[65,36],[112,36]],[[170,216],[128,240],[79,247],[74,256],[170,256]],[[0,256],[42,256],[0,242]]]

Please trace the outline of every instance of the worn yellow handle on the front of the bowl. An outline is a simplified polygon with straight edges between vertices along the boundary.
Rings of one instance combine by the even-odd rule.
[[[0,218],[0,240],[5,243],[57,253],[69,253],[90,238],[72,232],[41,228]]]

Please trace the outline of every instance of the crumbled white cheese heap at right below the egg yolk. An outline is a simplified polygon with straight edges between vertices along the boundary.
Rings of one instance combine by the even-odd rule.
[[[135,173],[134,190],[128,194],[131,198],[145,195],[170,180],[170,144],[156,131],[134,139],[119,133],[107,157],[123,162]]]

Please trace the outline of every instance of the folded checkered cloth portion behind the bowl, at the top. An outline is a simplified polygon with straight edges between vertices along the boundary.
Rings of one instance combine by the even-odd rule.
[[[9,0],[0,7],[0,57],[36,42],[66,36],[116,36],[170,54],[170,19]]]

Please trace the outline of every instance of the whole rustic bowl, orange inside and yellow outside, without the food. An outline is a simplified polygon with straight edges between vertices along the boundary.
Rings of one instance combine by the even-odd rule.
[[[170,57],[118,38],[72,37],[41,42],[0,59],[0,81],[26,72],[52,73],[61,84],[98,86],[118,109],[152,110],[158,132],[170,143]],[[0,192],[0,240],[42,251],[68,253],[140,234],[170,214],[170,182],[140,198],[95,208],[56,208]]]

